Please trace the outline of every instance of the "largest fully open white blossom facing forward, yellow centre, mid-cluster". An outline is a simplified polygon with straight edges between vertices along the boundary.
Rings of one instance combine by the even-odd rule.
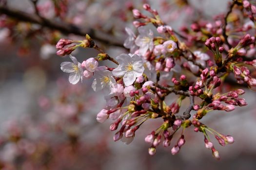
[[[116,77],[123,76],[125,86],[132,85],[136,78],[143,74],[143,61],[138,55],[130,56],[123,53],[117,56],[117,61],[119,65],[112,73]]]

